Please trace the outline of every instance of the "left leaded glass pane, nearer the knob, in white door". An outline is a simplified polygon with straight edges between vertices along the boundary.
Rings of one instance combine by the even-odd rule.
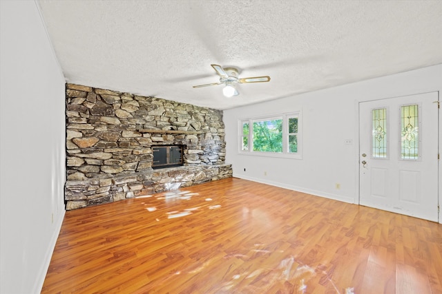
[[[387,158],[387,109],[372,110],[372,157]]]

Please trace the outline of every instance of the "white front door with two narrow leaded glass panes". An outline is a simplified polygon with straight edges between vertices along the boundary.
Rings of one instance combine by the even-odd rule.
[[[359,204],[438,221],[439,93],[359,103]]]

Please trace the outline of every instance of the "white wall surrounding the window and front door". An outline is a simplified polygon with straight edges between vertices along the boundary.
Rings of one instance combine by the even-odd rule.
[[[441,90],[442,65],[435,65],[224,110],[226,163],[233,165],[233,176],[238,178],[358,203],[358,103]],[[302,110],[301,160],[238,154],[238,119],[296,110]],[[346,139],[352,139],[352,145],[345,145]],[[441,134],[439,142],[442,146]],[[442,172],[440,162],[439,170]]]

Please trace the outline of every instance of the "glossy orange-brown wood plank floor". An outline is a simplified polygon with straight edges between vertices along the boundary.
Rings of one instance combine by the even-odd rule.
[[[442,225],[229,178],[67,211],[42,293],[442,293]]]

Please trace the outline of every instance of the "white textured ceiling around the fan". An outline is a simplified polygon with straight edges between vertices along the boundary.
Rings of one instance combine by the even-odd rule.
[[[442,63],[442,1],[37,0],[68,83],[229,109]],[[233,66],[225,98],[210,66]]]

